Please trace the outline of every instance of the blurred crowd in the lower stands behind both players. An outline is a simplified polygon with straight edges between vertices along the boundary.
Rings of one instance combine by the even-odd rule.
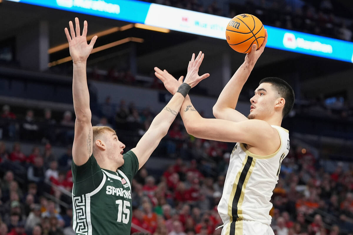
[[[206,158],[217,155],[220,148],[206,140],[194,142],[199,147],[193,150]],[[74,234],[71,198],[62,195],[64,189],[72,189],[71,146],[62,156],[46,154],[48,148],[41,152],[34,146],[32,153],[24,154],[19,143],[11,151],[0,142],[0,235]],[[162,173],[140,169],[132,181],[132,223],[138,227],[131,233],[219,235],[221,229],[215,228],[222,221],[217,204],[229,157],[226,151],[217,165],[210,166],[196,161],[196,155],[191,161],[177,156]],[[26,174],[18,168],[25,168],[22,173]],[[44,184],[48,181],[51,184]],[[60,206],[56,199],[68,206]],[[271,226],[276,235],[351,235],[353,165],[338,162],[329,172],[310,149],[292,144],[282,162],[272,203]]]

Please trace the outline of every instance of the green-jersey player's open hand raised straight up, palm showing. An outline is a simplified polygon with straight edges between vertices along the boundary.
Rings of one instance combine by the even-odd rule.
[[[80,34],[80,23],[77,17],[75,18],[76,35],[73,29],[72,21],[70,20],[68,24],[70,26],[71,36],[67,28],[65,28],[65,34],[69,44],[72,61],[73,63],[85,62],[93,49],[97,36],[94,36],[91,39],[90,44],[87,44],[87,21],[85,20],[83,23],[82,35]]]

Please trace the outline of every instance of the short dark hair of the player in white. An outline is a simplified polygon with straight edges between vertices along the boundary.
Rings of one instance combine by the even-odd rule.
[[[259,82],[259,84],[262,84],[263,82],[272,84],[278,94],[285,99],[286,103],[282,111],[282,116],[286,116],[289,112],[291,112],[294,105],[293,88],[285,80],[276,77],[264,78]]]

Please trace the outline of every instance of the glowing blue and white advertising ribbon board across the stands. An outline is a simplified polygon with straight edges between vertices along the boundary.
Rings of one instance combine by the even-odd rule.
[[[226,39],[230,18],[135,0],[8,0]],[[353,43],[265,25],[267,47],[353,63]]]

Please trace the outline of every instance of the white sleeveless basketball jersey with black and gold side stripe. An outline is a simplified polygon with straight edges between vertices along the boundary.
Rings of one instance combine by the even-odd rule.
[[[272,127],[279,132],[281,140],[281,146],[274,154],[259,156],[250,153],[244,144],[235,144],[218,205],[225,225],[223,229],[231,229],[228,223],[241,219],[271,223],[270,199],[278,181],[282,160],[289,150],[288,130],[275,125]],[[222,231],[222,234],[229,232]]]

